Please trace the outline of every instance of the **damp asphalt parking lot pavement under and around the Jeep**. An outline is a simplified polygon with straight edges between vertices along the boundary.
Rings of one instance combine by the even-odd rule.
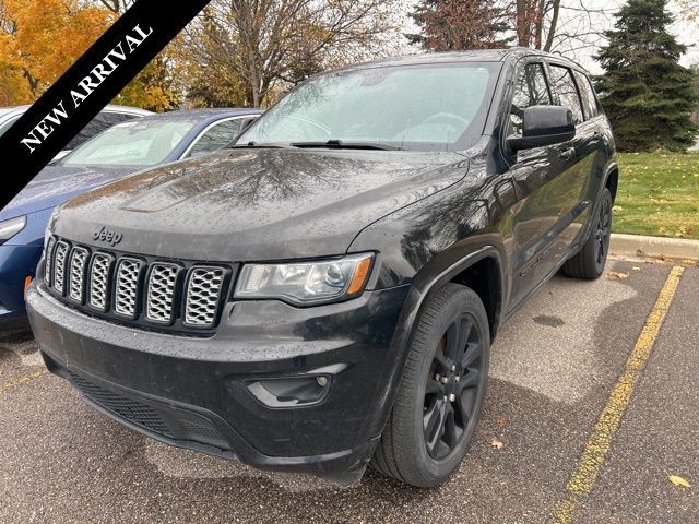
[[[547,284],[498,335],[471,452],[436,490],[374,473],[342,488],[151,441],[5,334],[0,522],[699,522],[699,267],[676,265],[616,260],[600,281]]]

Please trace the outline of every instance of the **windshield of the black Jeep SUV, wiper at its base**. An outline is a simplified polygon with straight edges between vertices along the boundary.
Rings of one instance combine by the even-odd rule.
[[[280,100],[237,145],[464,150],[483,133],[499,69],[457,62],[317,76]]]

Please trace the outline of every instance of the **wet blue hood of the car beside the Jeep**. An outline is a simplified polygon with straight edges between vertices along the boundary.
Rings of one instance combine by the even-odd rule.
[[[140,166],[47,166],[0,212],[0,221],[55,207],[140,169]]]

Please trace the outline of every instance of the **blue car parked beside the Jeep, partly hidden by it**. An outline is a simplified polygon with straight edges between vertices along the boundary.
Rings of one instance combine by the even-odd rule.
[[[34,278],[54,207],[147,167],[224,147],[261,112],[199,109],[130,120],[44,168],[0,212],[0,330],[27,325],[24,290]]]

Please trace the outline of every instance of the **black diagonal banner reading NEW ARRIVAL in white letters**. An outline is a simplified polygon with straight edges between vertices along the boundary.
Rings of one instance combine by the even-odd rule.
[[[31,1],[31,0],[29,0]],[[3,209],[210,0],[138,0],[0,138]]]

